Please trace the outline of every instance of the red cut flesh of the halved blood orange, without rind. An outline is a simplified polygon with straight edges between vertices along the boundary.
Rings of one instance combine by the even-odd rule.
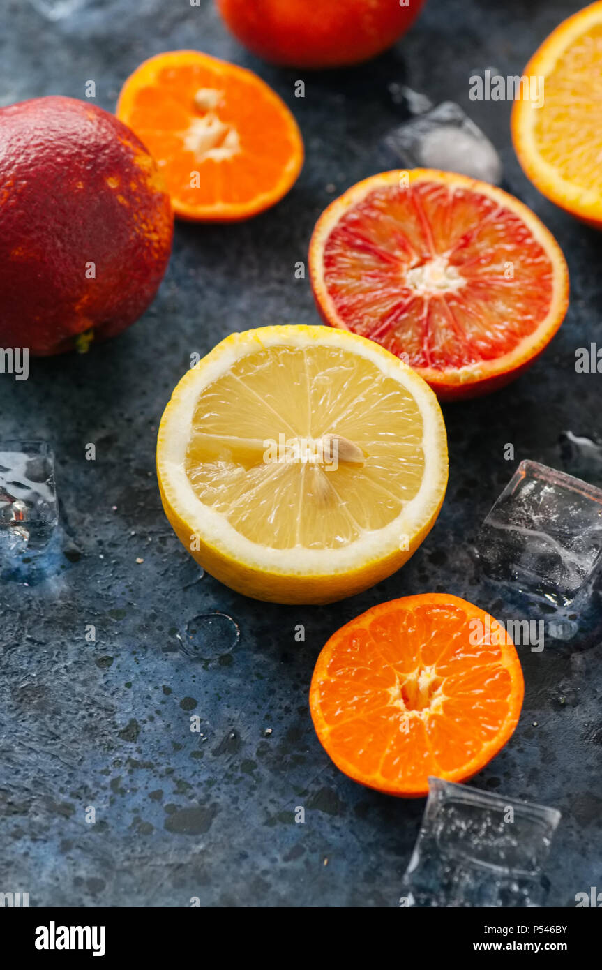
[[[554,268],[516,212],[423,181],[385,184],[345,212],[325,243],[324,283],[342,326],[445,372],[501,357],[536,331]]]

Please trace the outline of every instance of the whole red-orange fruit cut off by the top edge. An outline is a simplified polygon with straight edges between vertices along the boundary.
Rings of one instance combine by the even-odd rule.
[[[390,48],[424,0],[217,0],[233,34],[275,64],[328,68],[358,64]]]

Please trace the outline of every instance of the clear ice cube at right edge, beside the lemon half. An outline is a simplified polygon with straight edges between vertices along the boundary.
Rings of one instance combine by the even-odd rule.
[[[602,562],[602,491],[521,462],[477,539],[486,575],[555,607],[586,597]]]

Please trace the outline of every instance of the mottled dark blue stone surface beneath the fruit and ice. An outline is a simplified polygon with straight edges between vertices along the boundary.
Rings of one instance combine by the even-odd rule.
[[[595,435],[600,377],[575,372],[575,350],[600,333],[600,237],[523,177],[510,106],[468,99],[471,75],[520,74],[580,6],[428,0],[394,51],[353,71],[309,74],[240,49],[209,0],[90,0],[56,22],[28,0],[3,0],[0,104],[81,98],[92,79],[96,103],[112,111],[143,58],[199,48],[279,91],[307,158],[276,209],[235,226],[178,225],[157,300],[119,339],[86,356],[32,361],[27,381],[0,376],[0,437],[51,442],[61,515],[43,566],[5,572],[0,590],[0,889],[28,891],[30,905],[188,906],[192,896],[202,905],[397,905],[424,801],[369,792],[337,771],[311,726],[309,681],[333,630],[385,599],[448,591],[515,617],[480,582],[470,542],[519,460],[561,467],[561,432]],[[299,79],[304,99],[294,96]],[[505,187],[566,254],[571,307],[518,382],[445,407],[447,499],[407,566],[333,606],[258,604],[201,577],[172,533],[154,471],[157,425],[191,352],[248,327],[318,322],[295,264],[320,211],[375,171],[375,146],[400,119],[389,87],[399,82],[435,103],[459,102],[486,131]],[[85,461],[87,442],[95,462]],[[504,460],[507,442],[515,462]],[[215,611],[225,617],[196,620]],[[85,639],[90,624],[95,643]],[[520,648],[521,723],[473,783],[562,811],[547,867],[551,905],[572,906],[600,881],[598,640]],[[202,733],[191,733],[191,714]],[[85,821],[88,806],[96,824]]]

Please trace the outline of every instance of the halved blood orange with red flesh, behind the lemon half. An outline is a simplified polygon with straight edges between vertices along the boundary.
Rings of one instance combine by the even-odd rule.
[[[376,340],[441,400],[509,383],[568,305],[562,252],[537,216],[487,182],[385,172],[325,210],[309,246],[324,320]]]

